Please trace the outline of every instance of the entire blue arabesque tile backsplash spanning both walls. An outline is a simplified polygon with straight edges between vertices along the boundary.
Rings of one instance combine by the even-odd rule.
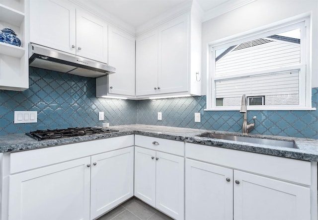
[[[0,135],[33,130],[101,126],[98,112],[110,125],[149,124],[241,132],[238,111],[204,111],[205,96],[162,100],[110,100],[95,97],[95,79],[30,68],[29,89],[0,90]],[[318,88],[312,89],[318,107]],[[14,124],[14,111],[37,111],[38,123]],[[157,120],[162,112],[162,121]],[[201,123],[194,113],[201,113]],[[318,139],[318,111],[249,111],[257,116],[252,134]]]

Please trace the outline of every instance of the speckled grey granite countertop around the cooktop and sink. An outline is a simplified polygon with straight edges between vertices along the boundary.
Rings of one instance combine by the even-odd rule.
[[[250,137],[269,138],[275,140],[295,141],[297,148],[265,146],[259,144],[250,144],[235,141],[226,141],[220,139],[200,138],[196,137],[205,132],[212,132],[217,134],[235,134],[241,136],[239,133],[208,131],[201,129],[189,128],[175,128],[165,126],[153,125],[123,125],[112,126],[111,129],[119,130],[119,132],[78,136],[73,138],[63,138],[48,141],[36,141],[25,134],[0,136],[0,152],[16,152],[26,149],[36,149],[41,147],[53,147],[57,145],[73,144],[78,142],[92,141],[103,138],[113,138],[124,135],[145,135],[169,140],[185,141],[188,143],[202,144],[208,146],[223,147],[229,149],[237,149],[248,152],[262,153],[274,156],[281,156],[287,158],[316,161],[318,162],[318,140],[289,138],[281,136],[263,136],[263,135],[249,135]]]

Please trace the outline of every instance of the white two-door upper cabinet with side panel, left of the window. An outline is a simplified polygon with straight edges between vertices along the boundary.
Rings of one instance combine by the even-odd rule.
[[[201,22],[182,14],[136,39],[136,96],[201,95]]]

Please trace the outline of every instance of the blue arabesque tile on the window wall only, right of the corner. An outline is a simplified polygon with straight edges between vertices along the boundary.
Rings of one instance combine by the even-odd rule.
[[[318,88],[312,89],[312,106],[318,108]],[[238,111],[204,111],[205,96],[139,100],[137,123],[172,127],[241,132],[243,115]],[[162,121],[157,120],[162,112]],[[194,113],[201,113],[201,122],[194,122]],[[318,139],[316,111],[248,111],[248,122],[256,116],[251,134]]]

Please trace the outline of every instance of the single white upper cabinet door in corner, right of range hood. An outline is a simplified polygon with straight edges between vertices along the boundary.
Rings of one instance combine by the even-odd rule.
[[[135,95],[135,37],[108,28],[108,61],[116,73],[108,76],[108,93]]]

